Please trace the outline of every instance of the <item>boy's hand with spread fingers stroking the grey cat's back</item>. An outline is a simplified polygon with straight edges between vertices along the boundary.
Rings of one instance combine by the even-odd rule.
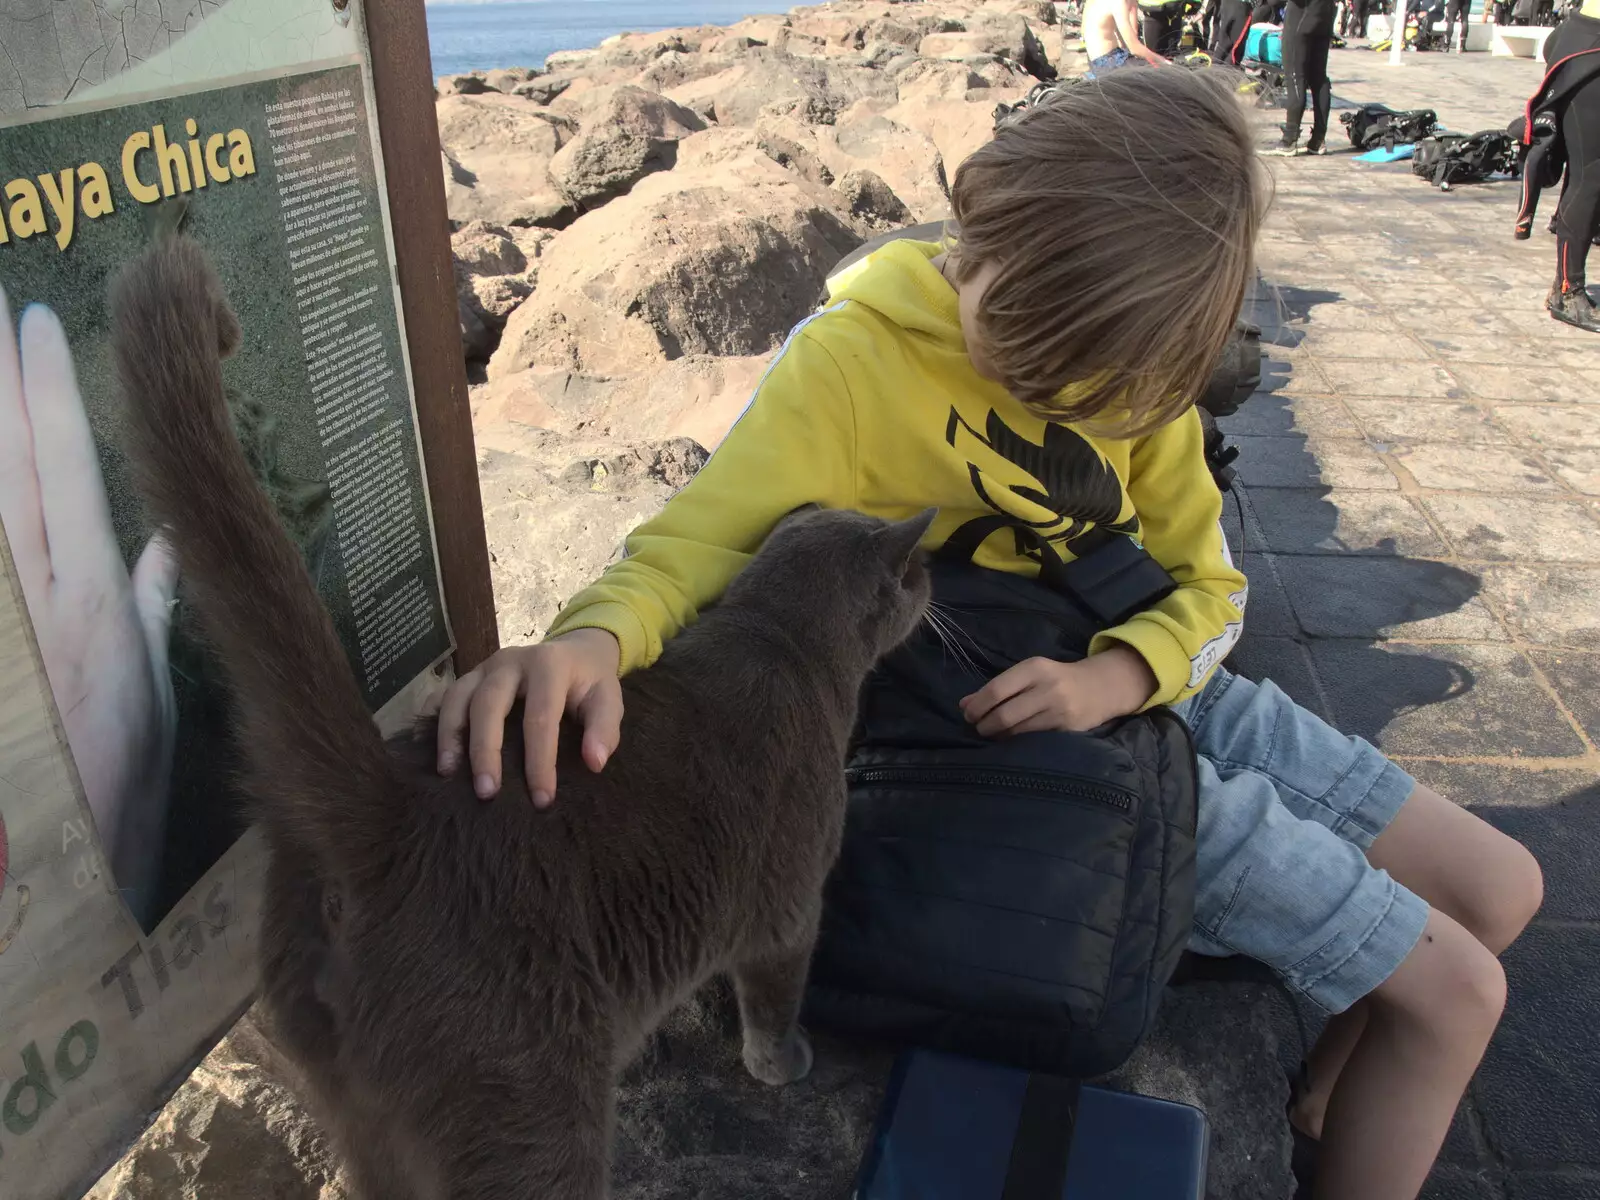
[[[622,648],[603,629],[574,629],[538,646],[501,650],[445,693],[438,709],[438,773],[461,765],[461,736],[472,723],[472,787],[480,800],[501,789],[506,717],[523,698],[522,730],[528,790],[536,808],[555,803],[555,746],[562,715],[584,726],[584,763],[605,766],[622,739]]]

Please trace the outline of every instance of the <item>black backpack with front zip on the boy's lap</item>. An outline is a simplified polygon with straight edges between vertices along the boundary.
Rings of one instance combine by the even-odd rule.
[[[1067,566],[1115,574],[1130,557]],[[963,696],[1029,658],[1083,658],[1109,619],[1034,579],[931,570],[944,629],[925,622],[862,691],[805,1021],[1112,1070],[1149,1032],[1194,920],[1189,728],[1155,709],[1093,733],[981,738]]]

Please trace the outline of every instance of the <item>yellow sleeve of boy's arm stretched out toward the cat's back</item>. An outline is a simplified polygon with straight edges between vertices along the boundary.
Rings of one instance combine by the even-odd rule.
[[[806,502],[856,506],[856,435],[838,365],[798,330],[699,475],[634,531],[622,562],[568,602],[549,637],[605,629],[622,648],[622,674],[648,667]]]

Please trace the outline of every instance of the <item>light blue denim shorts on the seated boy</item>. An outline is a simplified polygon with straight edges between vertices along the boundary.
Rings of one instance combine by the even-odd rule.
[[[1366,861],[1416,786],[1270,682],[1218,669],[1174,712],[1200,755],[1189,949],[1242,954],[1330,1013],[1411,954],[1427,902]]]

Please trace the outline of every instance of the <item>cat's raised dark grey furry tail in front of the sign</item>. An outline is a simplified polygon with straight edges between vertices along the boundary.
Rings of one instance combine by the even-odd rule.
[[[221,360],[240,328],[221,282],[194,240],[170,235],[122,270],[110,306],[134,474],[232,685],[256,818],[328,866],[339,848],[378,848],[392,821],[389,758],[234,434]]]

